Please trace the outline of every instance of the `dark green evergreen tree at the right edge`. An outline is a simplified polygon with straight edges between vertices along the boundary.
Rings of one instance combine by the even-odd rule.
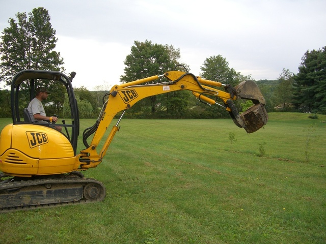
[[[307,51],[294,76],[295,105],[309,112],[326,112],[326,46]]]

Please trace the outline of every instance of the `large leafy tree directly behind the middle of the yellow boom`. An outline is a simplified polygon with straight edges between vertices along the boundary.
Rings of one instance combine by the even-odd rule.
[[[152,44],[152,42],[148,40],[145,42],[134,41],[130,54],[126,56],[124,61],[126,66],[124,69],[125,74],[120,78],[122,82],[125,83],[148,76],[164,74],[166,71],[172,70],[178,64],[179,58],[180,50],[175,49],[172,45]],[[137,109],[138,106],[138,110],[144,111],[149,107],[151,113],[154,114],[159,103],[163,106],[162,103],[164,101],[169,100],[169,98],[175,99],[176,96],[178,95],[152,96],[136,104],[135,109]],[[160,98],[166,99],[161,101]],[[169,107],[169,104],[166,104],[166,106],[168,106],[168,110],[169,108],[174,108],[174,106]],[[177,105],[177,107],[179,106]]]

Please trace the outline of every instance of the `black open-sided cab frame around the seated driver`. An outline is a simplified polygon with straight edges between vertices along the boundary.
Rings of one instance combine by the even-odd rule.
[[[12,80],[10,99],[12,121],[14,126],[24,125],[23,127],[26,127],[25,124],[31,124],[50,129],[53,129],[55,126],[60,126],[63,128],[62,134],[69,140],[74,154],[76,154],[77,137],[79,135],[79,117],[77,102],[71,84],[75,73],[72,72],[70,75],[71,76],[68,77],[63,73],[55,71],[23,70],[17,73]],[[39,86],[49,87],[48,89],[53,87],[53,90],[60,91],[59,93],[57,92],[57,96],[58,94],[60,94],[60,96],[65,96],[65,102],[69,104],[69,109],[66,109],[66,111],[68,111],[67,114],[70,114],[70,116],[68,116],[68,120],[67,116],[65,116],[65,120],[60,121],[60,119],[58,119],[56,124],[32,123],[27,106],[35,97],[35,90]],[[51,100],[50,95],[50,99],[49,101],[45,101],[47,104],[45,104],[44,107],[53,105],[53,99],[55,98],[52,98]],[[57,104],[57,106],[63,106],[63,104]],[[55,114],[47,114],[47,116],[51,115],[56,116]]]

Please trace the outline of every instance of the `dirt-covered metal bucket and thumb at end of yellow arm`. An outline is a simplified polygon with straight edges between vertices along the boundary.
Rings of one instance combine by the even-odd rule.
[[[230,115],[234,123],[238,127],[243,127],[247,133],[253,133],[266,125],[268,120],[265,109],[266,102],[256,82],[252,80],[243,81],[234,88],[236,99],[247,99],[254,103],[249,109],[239,114],[232,100],[228,100],[227,104],[232,109]]]

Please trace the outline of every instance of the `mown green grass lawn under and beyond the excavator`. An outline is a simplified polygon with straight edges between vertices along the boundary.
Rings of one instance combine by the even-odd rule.
[[[104,183],[104,201],[1,214],[0,243],[326,243],[318,117],[270,113],[253,134],[231,119],[122,120],[84,173]]]

